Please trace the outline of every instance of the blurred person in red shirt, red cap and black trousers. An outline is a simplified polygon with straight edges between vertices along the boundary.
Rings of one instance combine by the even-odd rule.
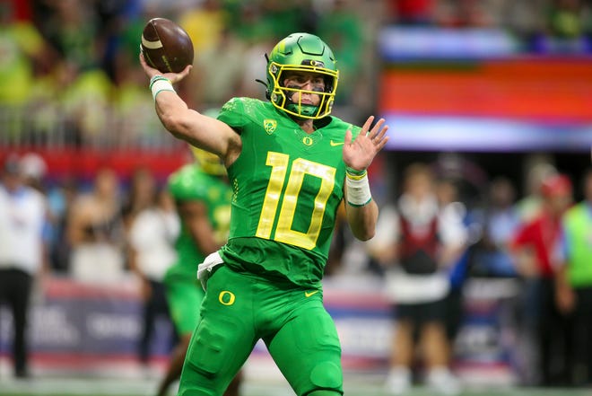
[[[567,379],[566,318],[555,304],[556,250],[560,243],[561,219],[571,205],[571,181],[552,174],[541,184],[543,201],[538,215],[521,224],[509,243],[519,277],[523,280],[523,340],[532,343],[523,381],[545,386]]]

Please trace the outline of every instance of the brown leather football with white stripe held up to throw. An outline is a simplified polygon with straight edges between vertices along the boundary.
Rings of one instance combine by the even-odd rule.
[[[140,48],[146,63],[162,73],[179,73],[193,64],[193,42],[187,31],[166,18],[146,23]]]

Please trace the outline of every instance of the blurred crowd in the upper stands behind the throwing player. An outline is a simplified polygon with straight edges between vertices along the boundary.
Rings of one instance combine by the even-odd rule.
[[[260,97],[255,79],[263,77],[263,54],[289,32],[309,31],[339,60],[337,104],[359,116],[377,107],[376,38],[387,24],[501,28],[519,45],[579,51],[589,49],[589,13],[583,0],[3,0],[0,142],[161,145],[137,67],[138,37],[154,16],[178,21],[194,42],[201,72],[183,90],[192,105]]]

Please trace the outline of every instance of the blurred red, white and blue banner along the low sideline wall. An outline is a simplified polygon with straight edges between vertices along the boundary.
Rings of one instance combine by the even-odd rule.
[[[327,279],[324,300],[335,320],[347,372],[384,374],[396,331],[393,307],[381,293],[380,279]],[[64,278],[46,283],[46,293],[30,314],[31,365],[52,372],[124,374],[138,365],[142,330],[139,289],[135,282],[92,286]],[[466,317],[454,349],[457,372],[470,378],[509,383],[514,379],[515,329],[510,318],[511,284],[471,280],[466,286]],[[10,356],[12,323],[0,309],[0,357]],[[167,361],[172,340],[170,322],[157,323],[152,359]],[[259,342],[249,369],[274,374],[273,360]],[[497,376],[496,376],[497,375]]]

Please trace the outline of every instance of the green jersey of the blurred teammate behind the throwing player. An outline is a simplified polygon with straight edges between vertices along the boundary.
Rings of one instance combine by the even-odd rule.
[[[187,164],[170,175],[168,188],[175,201],[201,201],[208,210],[214,239],[220,244],[226,242],[230,226],[232,190],[219,177],[203,172],[196,164]],[[175,242],[178,260],[167,276],[180,275],[196,277],[197,265],[206,254],[199,251],[187,226],[181,222],[181,231]],[[207,252],[209,253],[209,252]]]

